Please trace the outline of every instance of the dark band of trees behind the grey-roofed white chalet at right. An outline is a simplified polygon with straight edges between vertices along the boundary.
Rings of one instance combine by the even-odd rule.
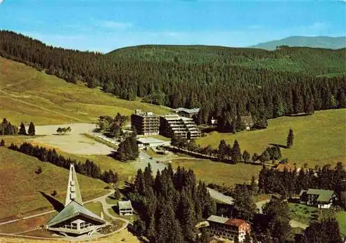
[[[346,172],[343,163],[338,162],[334,169],[330,165],[325,165],[318,170],[298,170],[284,171],[267,169],[263,166],[258,186],[264,193],[278,193],[285,197],[291,197],[307,188],[320,188],[325,190],[335,190],[338,195],[345,190],[343,180],[346,178]],[[340,197],[339,197],[340,198]]]

